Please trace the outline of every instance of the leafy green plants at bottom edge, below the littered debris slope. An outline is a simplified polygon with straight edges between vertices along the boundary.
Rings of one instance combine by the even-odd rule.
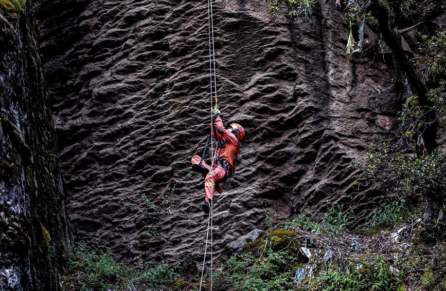
[[[350,264],[347,269],[321,271],[317,284],[322,290],[399,290],[401,275],[390,269],[389,263],[379,261]]]

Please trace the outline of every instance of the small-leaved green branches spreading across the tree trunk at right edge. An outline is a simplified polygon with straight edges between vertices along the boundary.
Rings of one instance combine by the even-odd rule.
[[[356,182],[371,185],[384,182],[406,195],[432,193],[444,195],[446,190],[446,151],[435,150],[424,157],[404,156],[398,148],[386,142],[367,153],[365,170]]]

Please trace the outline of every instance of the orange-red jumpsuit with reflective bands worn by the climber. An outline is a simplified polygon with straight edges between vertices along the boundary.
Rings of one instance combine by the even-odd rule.
[[[215,191],[215,186],[217,185],[217,188],[219,190],[219,193],[222,192],[219,184],[226,181],[226,179],[229,177],[229,169],[224,166],[224,161],[226,161],[230,167],[230,170],[232,170],[232,173],[236,170],[236,159],[237,156],[240,154],[240,145],[239,141],[237,140],[236,136],[231,133],[230,130],[227,130],[223,126],[223,121],[220,117],[217,117],[214,122],[215,128],[221,132],[223,130],[223,133],[217,133],[218,137],[217,139],[219,141],[224,140],[226,147],[220,148],[218,150],[218,157],[219,161],[213,165],[212,171],[210,170],[210,166],[206,164],[205,161],[203,161],[203,166],[205,166],[209,173],[206,175],[206,178],[204,179],[204,189],[206,192],[205,201],[213,198],[213,192]],[[212,137],[215,137],[215,135],[212,132]],[[200,156],[193,156],[192,157],[192,164],[199,164],[200,163]]]

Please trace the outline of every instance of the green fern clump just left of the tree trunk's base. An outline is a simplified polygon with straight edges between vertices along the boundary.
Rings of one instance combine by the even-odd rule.
[[[366,224],[368,229],[396,226],[409,216],[411,211],[404,199],[385,199],[370,211]]]

